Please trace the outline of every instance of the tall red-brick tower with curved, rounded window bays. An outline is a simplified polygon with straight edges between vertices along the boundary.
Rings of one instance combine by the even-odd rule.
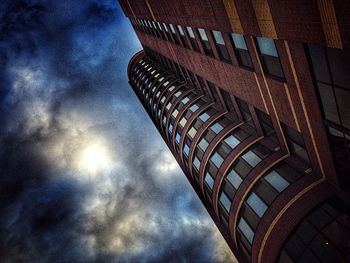
[[[350,262],[350,2],[120,4],[130,85],[239,262]]]

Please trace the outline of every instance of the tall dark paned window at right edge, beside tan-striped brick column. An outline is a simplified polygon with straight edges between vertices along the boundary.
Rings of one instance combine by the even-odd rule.
[[[341,187],[350,191],[350,51],[308,45],[310,66]]]

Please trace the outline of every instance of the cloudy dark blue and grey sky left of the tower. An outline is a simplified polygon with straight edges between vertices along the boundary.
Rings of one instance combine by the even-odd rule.
[[[0,262],[231,262],[127,83],[116,0],[0,1]]]

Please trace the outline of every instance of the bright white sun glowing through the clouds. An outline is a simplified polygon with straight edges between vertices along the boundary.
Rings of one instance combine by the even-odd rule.
[[[105,172],[111,167],[111,157],[107,147],[101,143],[93,143],[84,148],[78,161],[78,169],[83,173],[95,175]]]

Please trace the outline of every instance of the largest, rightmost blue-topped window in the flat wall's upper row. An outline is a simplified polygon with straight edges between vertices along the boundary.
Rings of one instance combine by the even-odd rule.
[[[268,76],[284,79],[282,65],[272,38],[256,37],[260,61]]]

